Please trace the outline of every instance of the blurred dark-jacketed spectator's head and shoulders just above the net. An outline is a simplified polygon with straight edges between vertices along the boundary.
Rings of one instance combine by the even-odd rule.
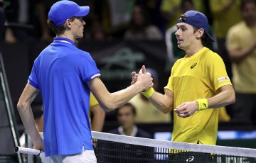
[[[149,133],[137,128],[135,125],[135,118],[136,108],[132,105],[132,103],[126,103],[124,106],[117,108],[117,120],[120,126],[114,130],[111,130],[109,133],[151,138],[152,136]]]

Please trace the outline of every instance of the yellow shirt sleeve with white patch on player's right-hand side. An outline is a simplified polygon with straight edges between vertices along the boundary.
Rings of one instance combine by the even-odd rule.
[[[215,90],[219,89],[221,86],[232,85],[222,58],[215,53],[211,55],[208,61],[210,61],[210,81],[214,85]]]

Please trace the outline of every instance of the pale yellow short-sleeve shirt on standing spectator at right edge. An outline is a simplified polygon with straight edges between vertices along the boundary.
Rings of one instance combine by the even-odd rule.
[[[241,32],[242,31],[242,32]],[[247,50],[256,42],[256,27],[248,27],[245,21],[236,24],[227,35],[228,50]],[[242,94],[256,93],[256,50],[243,58],[241,62],[232,64],[233,84],[235,91]]]

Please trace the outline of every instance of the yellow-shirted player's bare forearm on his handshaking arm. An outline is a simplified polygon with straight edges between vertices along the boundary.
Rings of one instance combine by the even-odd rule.
[[[172,99],[166,95],[160,94],[157,91],[155,91],[154,94],[149,98],[149,101],[162,113],[170,113],[173,109]]]

